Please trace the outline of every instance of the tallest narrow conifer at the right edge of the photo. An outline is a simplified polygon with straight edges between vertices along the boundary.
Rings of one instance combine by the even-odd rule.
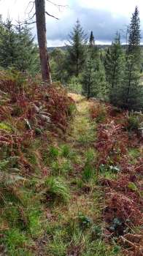
[[[128,49],[126,51],[125,75],[119,94],[121,108],[141,110],[143,108],[143,87],[140,79],[140,22],[139,11],[136,7],[129,27]]]

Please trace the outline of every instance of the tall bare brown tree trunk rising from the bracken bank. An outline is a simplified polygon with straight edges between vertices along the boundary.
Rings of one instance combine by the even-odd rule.
[[[41,62],[42,80],[51,84],[52,79],[50,75],[49,56],[47,53],[45,0],[35,0],[35,7],[36,29],[39,44],[39,57]]]

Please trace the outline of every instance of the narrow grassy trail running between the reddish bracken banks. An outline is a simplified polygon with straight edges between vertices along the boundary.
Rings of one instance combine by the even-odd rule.
[[[77,112],[66,132],[65,142],[58,143],[60,154],[52,166],[69,187],[69,203],[55,203],[50,208],[53,220],[49,233],[53,238],[47,244],[49,256],[110,256],[120,255],[115,246],[104,244],[101,221],[104,193],[96,184],[96,123],[90,120],[92,102],[77,94],[70,94]],[[55,220],[54,220],[55,219]]]

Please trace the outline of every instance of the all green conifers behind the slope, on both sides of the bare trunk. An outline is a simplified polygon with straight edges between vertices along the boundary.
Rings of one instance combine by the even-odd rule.
[[[107,49],[96,46],[93,31],[88,39],[77,20],[69,34],[66,50],[50,52],[53,81],[60,81],[88,99],[96,97],[128,110],[143,110],[141,83],[142,49],[139,10],[136,7],[128,29],[128,45],[123,48],[120,34]],[[7,19],[0,22],[0,68],[9,67],[36,75],[40,72],[39,49],[31,29]]]

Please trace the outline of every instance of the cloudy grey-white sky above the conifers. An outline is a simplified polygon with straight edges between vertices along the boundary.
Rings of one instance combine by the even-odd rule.
[[[77,18],[80,19],[86,34],[93,30],[96,43],[112,42],[118,30],[125,42],[125,30],[130,23],[131,14],[137,5],[139,7],[142,42],[143,42],[143,0],[51,0],[55,4],[62,4],[57,8],[49,1],[46,3],[47,12],[55,15],[59,20],[47,16],[48,46],[64,45],[69,31]],[[28,4],[30,2],[30,4]],[[8,16],[13,21],[28,18],[32,7],[31,0],[0,0],[0,14],[3,20]],[[32,11],[34,13],[34,10]],[[31,12],[31,16],[32,16]],[[34,19],[33,19],[34,21]],[[34,25],[33,25],[34,27]],[[33,29],[36,35],[36,27]]]

